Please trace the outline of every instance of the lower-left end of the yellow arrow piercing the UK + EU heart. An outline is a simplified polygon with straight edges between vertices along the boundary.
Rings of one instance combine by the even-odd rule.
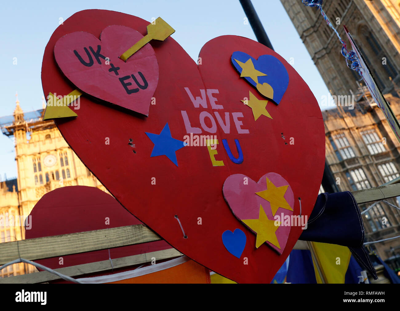
[[[68,106],[82,95],[78,90],[73,90],[70,94],[64,96],[62,100],[49,93],[47,96],[46,110],[44,110],[43,120],[51,120],[56,118],[77,117]]]

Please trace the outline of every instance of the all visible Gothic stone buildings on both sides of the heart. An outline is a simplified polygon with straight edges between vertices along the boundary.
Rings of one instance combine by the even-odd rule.
[[[336,107],[322,113],[326,163],[338,191],[376,187],[400,177],[400,144],[358,74],[347,68],[336,34],[317,8],[304,6],[301,0],[281,2],[331,95],[351,96],[354,101],[354,109]],[[400,119],[400,0],[324,0],[323,8],[349,47],[343,29],[347,26]],[[14,114],[0,118],[2,133],[15,139],[18,173],[16,179],[0,183],[0,243],[24,239],[25,230],[7,223],[2,226],[1,218],[29,215],[36,202],[53,189],[88,185],[106,191],[69,148],[54,122],[42,120],[43,112],[24,113],[17,100]],[[400,211],[387,203],[400,206],[400,194],[362,215],[366,241],[400,235]],[[368,206],[359,205],[360,210]],[[392,268],[400,270],[400,239],[372,245],[383,260],[393,263],[398,259],[398,267]],[[31,271],[29,265],[14,264],[3,269],[0,277]]]

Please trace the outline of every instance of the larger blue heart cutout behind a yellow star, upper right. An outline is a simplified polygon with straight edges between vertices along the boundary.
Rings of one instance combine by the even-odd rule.
[[[279,104],[289,85],[289,74],[284,64],[282,64],[282,62],[278,60],[278,58],[272,55],[261,55],[258,58],[258,60],[256,60],[250,55],[240,51],[233,52],[230,58],[232,65],[240,74],[242,73],[242,67],[239,66],[236,60],[245,63],[249,59],[252,60],[254,69],[267,75],[267,76],[259,76],[258,83],[269,84],[274,90],[273,98],[270,99],[273,100],[275,104]],[[243,77],[243,78],[246,79],[248,83],[250,83],[252,86],[256,88],[257,84],[252,78],[250,77]]]

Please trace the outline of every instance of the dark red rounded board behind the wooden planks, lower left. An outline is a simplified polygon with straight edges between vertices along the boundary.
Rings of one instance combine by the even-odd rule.
[[[46,193],[36,203],[30,216],[32,216],[32,228],[25,231],[26,239],[142,223],[111,195],[95,187],[87,186],[62,187]],[[109,225],[106,224],[106,217],[109,218]],[[166,241],[154,241],[111,248],[110,257],[115,259],[170,248],[171,245]],[[35,261],[46,267],[57,269],[109,259],[108,249],[61,257],[63,265],[60,265],[60,257]],[[132,267],[118,269],[118,272],[131,269]],[[94,273],[91,276],[104,274],[108,273]]]

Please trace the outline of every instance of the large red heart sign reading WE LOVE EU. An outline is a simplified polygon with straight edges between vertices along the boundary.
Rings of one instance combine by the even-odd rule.
[[[74,89],[57,68],[56,42],[78,31],[98,38],[110,25],[146,34],[148,22],[106,10],[81,11],[68,18],[52,34],[44,52],[44,94],[66,95]],[[325,160],[318,103],[281,56],[253,40],[215,38],[200,51],[199,65],[172,38],[151,45],[160,78],[148,118],[84,94],[76,118],[55,122],[110,193],[173,247],[236,282],[268,283],[302,232],[302,226],[272,217],[290,211],[290,204],[293,211],[286,214],[300,215],[300,203],[301,217],[308,217],[318,195]],[[234,59],[242,70],[232,66],[236,51],[243,52]],[[264,83],[259,77],[278,77],[279,72],[259,63],[267,59],[262,55],[273,56],[287,70],[289,83],[279,105],[267,101],[244,79],[251,78],[273,96],[273,79]],[[245,188],[269,173],[282,178],[263,180],[260,189],[254,187],[258,194]],[[252,218],[243,222],[232,213],[228,205],[232,201],[227,203],[222,192],[234,174],[244,176],[235,179],[242,185],[236,187],[236,196],[231,195],[234,200],[241,194],[250,196],[248,204],[260,203],[254,196],[262,199],[262,209],[253,207],[259,213],[251,213]],[[287,189],[294,197],[290,202]],[[234,183],[229,191],[235,191]],[[233,203],[232,210],[240,209]],[[277,245],[280,225],[291,228],[278,252],[271,245]]]

